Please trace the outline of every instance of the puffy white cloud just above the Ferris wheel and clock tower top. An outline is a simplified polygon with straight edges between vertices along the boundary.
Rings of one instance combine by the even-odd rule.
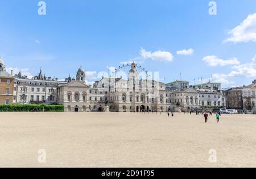
[[[149,52],[143,48],[141,49],[141,57],[143,59],[151,59],[153,61],[171,62],[174,60],[174,56],[172,56],[170,52],[167,52],[167,51]]]

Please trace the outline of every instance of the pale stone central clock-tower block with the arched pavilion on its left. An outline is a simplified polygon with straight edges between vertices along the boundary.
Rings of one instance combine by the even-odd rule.
[[[78,72],[84,74],[81,68]],[[106,111],[106,106],[113,112],[167,111],[166,86],[139,79],[135,63],[127,80],[102,77],[90,88],[82,79],[57,88],[57,103],[63,104],[65,111]]]

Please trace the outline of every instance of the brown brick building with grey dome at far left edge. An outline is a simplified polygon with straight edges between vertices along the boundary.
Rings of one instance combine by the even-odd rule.
[[[5,69],[5,63],[0,57],[0,105],[9,105],[13,103],[14,76],[13,72],[8,73]]]

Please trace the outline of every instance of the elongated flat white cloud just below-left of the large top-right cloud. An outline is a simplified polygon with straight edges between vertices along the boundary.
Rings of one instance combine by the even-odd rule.
[[[218,59],[217,56],[206,56],[203,58],[203,61],[208,66],[226,66],[226,65],[239,65],[240,61],[237,58],[232,58],[229,60]]]

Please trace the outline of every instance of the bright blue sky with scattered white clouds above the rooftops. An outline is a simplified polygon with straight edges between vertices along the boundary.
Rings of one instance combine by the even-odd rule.
[[[136,61],[166,83],[182,78],[230,87],[256,78],[255,0],[44,2],[46,15],[39,15],[39,1],[0,0],[7,70],[31,77],[42,68],[64,79],[82,65],[94,81],[99,72]]]

